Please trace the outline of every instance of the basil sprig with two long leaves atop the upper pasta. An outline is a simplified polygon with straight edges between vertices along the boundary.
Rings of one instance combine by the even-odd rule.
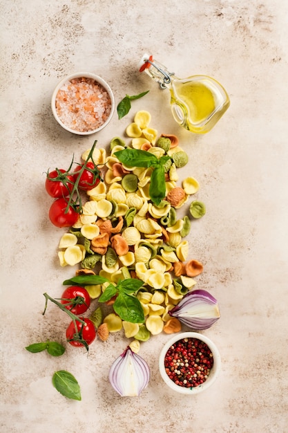
[[[124,149],[115,152],[115,156],[127,167],[152,167],[149,196],[155,205],[159,205],[166,196],[164,165],[170,156],[157,156],[146,150]]]

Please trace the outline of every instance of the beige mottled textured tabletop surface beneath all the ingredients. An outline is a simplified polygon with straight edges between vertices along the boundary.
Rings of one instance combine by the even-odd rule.
[[[2,433],[282,433],[288,413],[288,6],[282,0],[1,1],[1,418]],[[206,136],[173,122],[168,91],[137,72],[148,51],[185,77],[207,73],[231,107]],[[91,71],[117,102],[150,89],[126,118],[91,138],[57,125],[54,86]],[[121,398],[108,370],[124,350],[122,334],[96,342],[90,355],[67,348],[61,358],[24,347],[64,341],[67,318],[43,293],[61,294],[74,272],[60,268],[63,230],[48,222],[48,167],[68,165],[97,138],[121,136],[137,109],[189,153],[207,215],[189,235],[191,257],[204,263],[198,288],[220,303],[222,318],[205,335],[217,344],[222,374],[197,397],[164,386],[157,359],[167,335],[143,344],[151,383],[139,398]],[[56,369],[75,374],[82,401],[51,385]]]

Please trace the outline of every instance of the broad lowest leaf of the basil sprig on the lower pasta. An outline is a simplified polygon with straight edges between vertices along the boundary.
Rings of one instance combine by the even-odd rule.
[[[131,323],[144,323],[144,311],[137,297],[119,293],[114,304],[114,311],[122,320]]]

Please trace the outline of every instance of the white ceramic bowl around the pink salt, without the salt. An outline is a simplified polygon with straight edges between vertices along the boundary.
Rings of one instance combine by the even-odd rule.
[[[61,115],[59,116],[59,113],[57,112],[57,107],[56,107],[56,100],[57,100],[57,95],[58,95],[59,90],[64,86],[64,84],[66,82],[73,80],[75,78],[81,78],[81,77],[85,77],[85,78],[88,78],[90,80],[95,80],[95,82],[97,82],[97,84],[99,84],[99,86],[102,86],[102,88],[106,91],[106,93],[108,93],[108,97],[111,100],[111,105],[108,104],[108,106],[111,107],[111,111],[108,114],[108,117],[106,118],[106,120],[103,123],[99,122],[99,125],[97,125],[97,127],[95,129],[88,129],[86,131],[84,131],[84,130],[77,131],[77,129],[73,129],[71,127],[71,125],[66,125],[64,117],[61,117]],[[100,87],[100,89],[101,89],[101,87]],[[93,104],[97,105],[97,102],[93,102]],[[106,83],[106,81],[103,80],[103,78],[101,78],[98,75],[95,75],[93,73],[79,72],[79,73],[74,73],[74,74],[68,75],[67,77],[65,77],[63,80],[61,80],[57,84],[55,91],[52,93],[51,108],[52,108],[53,116],[55,117],[55,119],[57,120],[59,125],[61,125],[61,127],[66,129],[66,131],[76,133],[80,136],[88,136],[92,133],[101,131],[101,129],[103,129],[104,127],[106,127],[106,125],[108,125],[108,123],[110,122],[110,120],[113,116],[114,110],[115,110],[115,98],[114,98],[113,92],[111,90],[111,87],[108,85],[108,83]],[[102,109],[103,109],[103,107],[102,107]],[[86,115],[87,114],[85,113],[85,110],[84,110],[84,100],[81,100],[79,111],[77,112],[77,115],[75,115],[75,116],[77,116],[77,118],[79,120],[81,120]]]

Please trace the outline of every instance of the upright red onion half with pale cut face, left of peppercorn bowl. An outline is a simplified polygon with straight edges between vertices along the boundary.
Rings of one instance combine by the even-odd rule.
[[[141,356],[128,346],[113,362],[109,372],[112,387],[122,397],[139,396],[148,385],[150,369]]]

